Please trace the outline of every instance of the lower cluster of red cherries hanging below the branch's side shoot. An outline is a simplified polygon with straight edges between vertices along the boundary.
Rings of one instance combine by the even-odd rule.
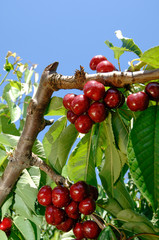
[[[73,229],[78,240],[99,236],[100,228],[95,221],[81,220],[81,214],[87,216],[95,211],[97,198],[97,188],[85,181],[74,183],[70,189],[62,185],[52,189],[45,185],[37,195],[39,204],[46,206],[46,222],[63,232]]]

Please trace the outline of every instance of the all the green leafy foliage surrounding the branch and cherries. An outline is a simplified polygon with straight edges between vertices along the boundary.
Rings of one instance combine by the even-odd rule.
[[[116,36],[121,47],[114,47],[115,59],[120,66],[120,56],[133,52],[140,67],[159,67],[159,46],[142,53],[132,39]],[[136,67],[130,61],[131,71]],[[8,52],[0,85],[3,93],[0,102],[0,175],[8,157],[14,151],[24,126],[27,106],[38,87],[36,66],[22,64],[16,53]],[[129,68],[130,70],[130,68]],[[140,69],[138,69],[140,70]],[[9,74],[12,79],[8,78]],[[131,89],[121,89],[125,97],[133,91],[143,90],[145,85],[133,84]],[[58,173],[71,181],[85,180],[98,185],[100,196],[97,214],[106,224],[99,239],[126,239],[141,232],[159,232],[159,106],[153,101],[143,112],[131,112],[126,103],[111,110],[106,120],[95,124],[85,135],[78,134],[69,124],[62,98],[53,96],[45,116],[59,116],[45,133],[42,141],[36,140],[33,152]],[[73,239],[73,233],[57,231],[44,220],[44,208],[37,202],[38,189],[45,184],[54,185],[51,179],[37,167],[23,171],[15,188],[1,208],[1,218],[12,216],[13,227],[9,239],[48,240]],[[151,236],[151,237],[150,237]],[[0,238],[7,236],[0,231]],[[158,239],[154,235],[142,235],[140,239]],[[138,239],[138,238],[136,238]]]

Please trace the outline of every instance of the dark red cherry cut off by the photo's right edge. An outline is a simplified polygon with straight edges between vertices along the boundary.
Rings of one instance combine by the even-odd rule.
[[[154,101],[159,101],[159,83],[150,82],[145,87],[145,92],[148,94],[149,98]]]

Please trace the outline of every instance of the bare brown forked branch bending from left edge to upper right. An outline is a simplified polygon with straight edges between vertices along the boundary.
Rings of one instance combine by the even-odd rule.
[[[58,62],[54,62],[44,69],[37,92],[30,101],[19,142],[3,176],[0,178],[0,206],[11,192],[22,171],[32,165],[38,166],[45,171],[57,184],[66,184],[66,180],[62,176],[57,175],[46,163],[32,153],[32,147],[39,132],[53,123],[53,120],[47,121],[44,119],[44,113],[54,91],[60,89],[83,89],[84,84],[89,80],[99,81],[105,86],[120,88],[133,83],[145,83],[159,79],[159,69],[139,72],[114,71],[111,73],[87,74],[84,72],[84,68],[80,67],[80,70],[77,70],[74,76],[62,76],[56,73],[57,67]]]

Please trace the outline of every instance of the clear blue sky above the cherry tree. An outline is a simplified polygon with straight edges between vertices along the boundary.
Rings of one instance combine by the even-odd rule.
[[[16,52],[23,63],[44,68],[59,61],[58,73],[74,74],[82,65],[86,72],[94,55],[105,55],[117,67],[113,52],[104,43],[121,46],[115,31],[133,38],[144,52],[159,45],[159,1],[106,0],[14,0],[0,3],[0,73],[8,50]],[[135,54],[121,57],[121,69]],[[0,90],[0,95],[1,95]],[[55,95],[63,96],[60,90]]]

